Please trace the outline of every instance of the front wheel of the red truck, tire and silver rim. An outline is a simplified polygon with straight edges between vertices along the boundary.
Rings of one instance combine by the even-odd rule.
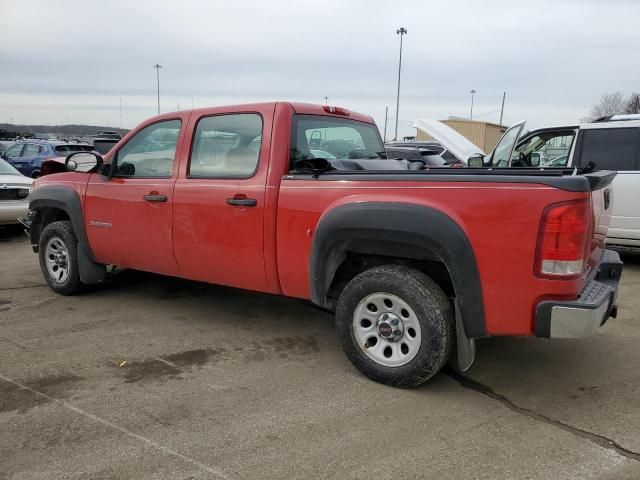
[[[40,234],[40,270],[51,289],[62,295],[78,292],[78,240],[70,221],[52,222]]]

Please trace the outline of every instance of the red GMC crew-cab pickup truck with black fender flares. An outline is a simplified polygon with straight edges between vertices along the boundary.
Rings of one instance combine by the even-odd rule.
[[[466,369],[476,339],[616,314],[611,172],[428,168],[386,158],[369,116],[287,102],[160,115],[66,170],[23,219],[53,290],[113,265],[309,299],[386,384]]]

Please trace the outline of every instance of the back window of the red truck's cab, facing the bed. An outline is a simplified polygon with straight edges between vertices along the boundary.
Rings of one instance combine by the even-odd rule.
[[[294,116],[292,166],[310,158],[380,159],[384,155],[382,139],[373,124],[322,115]]]

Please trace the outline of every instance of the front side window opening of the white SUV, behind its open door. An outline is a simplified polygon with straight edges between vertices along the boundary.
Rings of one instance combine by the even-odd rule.
[[[514,149],[511,155],[511,166],[566,167],[575,135],[573,130],[537,133],[521,141]],[[539,165],[531,162],[533,154],[538,155]]]

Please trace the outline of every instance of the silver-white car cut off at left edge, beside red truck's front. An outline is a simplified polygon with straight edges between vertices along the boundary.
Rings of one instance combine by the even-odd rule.
[[[25,177],[0,159],[0,225],[18,222],[29,211],[29,194],[33,179]]]

